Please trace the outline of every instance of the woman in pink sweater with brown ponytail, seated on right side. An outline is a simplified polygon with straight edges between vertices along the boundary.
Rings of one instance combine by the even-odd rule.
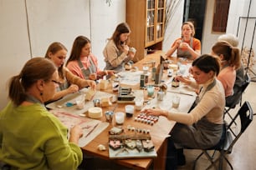
[[[228,42],[216,42],[212,46],[212,55],[221,59],[221,71],[218,80],[223,83],[225,97],[233,95],[233,85],[236,80],[236,70],[241,65],[241,56],[238,47]]]

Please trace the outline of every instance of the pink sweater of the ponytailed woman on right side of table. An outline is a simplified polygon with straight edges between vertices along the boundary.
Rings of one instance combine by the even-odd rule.
[[[217,78],[223,84],[225,97],[233,95],[233,85],[236,80],[235,69],[233,67],[224,67]]]

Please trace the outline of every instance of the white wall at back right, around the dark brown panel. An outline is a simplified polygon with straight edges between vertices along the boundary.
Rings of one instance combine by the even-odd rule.
[[[230,1],[229,13],[228,13],[228,24],[227,33],[233,33],[239,38],[239,47],[242,46],[243,42],[243,32],[245,30],[245,19],[240,22],[240,28],[238,31],[238,21],[239,17],[247,17],[248,15],[248,5],[250,0],[232,0]],[[211,51],[212,44],[217,41],[220,33],[212,32],[212,18],[213,18],[213,7],[214,1],[207,0],[206,17],[204,20],[203,33],[202,33],[202,53],[207,53]],[[251,0],[251,9],[249,17],[256,17],[256,0]],[[243,47],[250,47],[252,42],[253,27],[255,20],[248,20],[248,28],[246,29],[246,35],[244,37]],[[256,32],[255,32],[256,33]],[[253,49],[256,50],[256,35],[254,37]]]

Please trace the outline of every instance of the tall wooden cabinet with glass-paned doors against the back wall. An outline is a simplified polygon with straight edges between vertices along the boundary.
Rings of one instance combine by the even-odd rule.
[[[131,46],[137,50],[135,61],[144,58],[146,50],[161,50],[165,10],[166,0],[126,0]]]

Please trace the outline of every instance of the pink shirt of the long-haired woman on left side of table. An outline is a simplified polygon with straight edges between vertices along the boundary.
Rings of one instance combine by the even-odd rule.
[[[95,67],[96,67],[96,72],[91,72],[91,73],[99,73],[100,68],[98,67],[98,59],[93,54],[90,54],[90,56],[88,56],[88,57],[80,57],[80,60],[84,66],[84,69],[87,69],[88,67],[90,67],[89,57],[90,57],[91,61],[95,64]],[[77,60],[69,62],[67,67],[68,67],[69,71],[72,72],[74,75],[81,77],[81,78],[85,78],[83,75],[83,72],[81,71],[81,68],[79,67],[79,63]]]

